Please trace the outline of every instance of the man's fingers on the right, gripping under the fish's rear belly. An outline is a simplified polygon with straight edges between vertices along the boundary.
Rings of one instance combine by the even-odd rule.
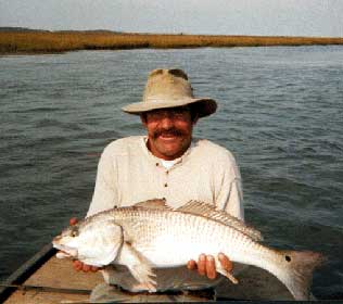
[[[233,265],[232,262],[224,254],[218,254],[218,259],[221,264],[221,267],[231,273]],[[217,277],[215,258],[212,255],[201,254],[199,256],[198,263],[194,259],[191,259],[187,263],[187,268],[190,270],[198,269],[199,275],[206,276],[208,279],[214,280]]]

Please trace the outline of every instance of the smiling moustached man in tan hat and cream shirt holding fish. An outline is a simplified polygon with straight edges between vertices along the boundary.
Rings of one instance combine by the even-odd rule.
[[[145,86],[143,99],[123,107],[139,115],[147,136],[115,140],[103,151],[97,174],[96,188],[87,216],[115,206],[129,206],[150,199],[164,199],[167,205],[179,207],[190,200],[215,205],[232,216],[244,219],[242,186],[239,168],[232,154],[209,140],[192,139],[199,118],[216,112],[217,103],[209,98],[195,98],[187,74],[181,69],[154,69]],[[181,250],[181,249],[180,249]],[[218,253],[225,269],[232,270],[229,257]],[[74,262],[77,270],[97,270],[97,267]],[[172,277],[161,283],[168,290],[201,289],[218,282],[214,256],[201,254],[190,261],[189,269],[157,273]],[[125,276],[122,274],[122,278]],[[129,282],[122,281],[129,289]],[[126,284],[126,287],[125,287]],[[190,287],[191,286],[191,287]]]

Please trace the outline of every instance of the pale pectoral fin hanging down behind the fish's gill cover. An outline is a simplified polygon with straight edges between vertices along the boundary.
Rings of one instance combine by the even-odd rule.
[[[139,282],[139,290],[156,292],[156,281],[151,278],[156,275],[152,270],[151,263],[140,252],[125,242],[120,252],[120,264],[126,265],[131,275]]]

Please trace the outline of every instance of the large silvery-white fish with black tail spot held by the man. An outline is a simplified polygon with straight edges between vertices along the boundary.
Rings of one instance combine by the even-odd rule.
[[[65,229],[53,239],[60,256],[88,265],[125,265],[141,289],[156,291],[153,268],[177,267],[201,253],[215,257],[217,271],[237,283],[220,267],[223,252],[232,262],[266,269],[285,284],[295,300],[308,300],[312,275],[322,256],[310,251],[278,251],[261,244],[259,231],[243,221],[191,201],[173,210],[163,200],[98,213]]]

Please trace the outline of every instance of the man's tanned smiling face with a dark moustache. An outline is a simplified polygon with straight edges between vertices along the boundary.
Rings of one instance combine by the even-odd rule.
[[[148,130],[148,148],[156,157],[180,157],[191,144],[193,125],[189,107],[158,109],[141,116]]]

